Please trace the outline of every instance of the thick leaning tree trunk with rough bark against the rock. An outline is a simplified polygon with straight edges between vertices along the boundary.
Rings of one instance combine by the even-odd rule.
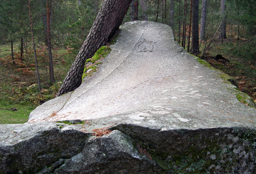
[[[105,0],[89,34],[73,62],[56,96],[74,91],[82,82],[85,61],[103,45],[107,44],[122,24],[132,0]]]

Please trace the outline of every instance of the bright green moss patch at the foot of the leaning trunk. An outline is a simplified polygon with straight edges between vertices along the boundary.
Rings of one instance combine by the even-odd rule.
[[[102,46],[102,47],[100,47],[100,49],[98,51],[96,51],[96,53],[94,54],[94,56],[92,56],[92,58],[86,60],[82,80],[86,76],[88,76],[88,75],[92,74],[93,72],[97,71],[98,67],[96,65],[101,64],[100,61],[103,58],[105,58],[110,53],[110,51],[111,51],[111,48],[109,46]],[[92,65],[89,65],[89,66],[86,65],[88,62],[91,62]],[[92,69],[92,70],[88,72],[89,69]]]

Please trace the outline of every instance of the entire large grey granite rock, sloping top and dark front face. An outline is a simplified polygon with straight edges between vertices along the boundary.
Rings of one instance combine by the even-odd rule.
[[[255,174],[255,103],[174,40],[125,23],[77,90],[0,125],[0,173]]]

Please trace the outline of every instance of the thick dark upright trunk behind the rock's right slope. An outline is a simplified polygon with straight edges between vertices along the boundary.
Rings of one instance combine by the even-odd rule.
[[[193,53],[199,52],[199,0],[193,0],[192,4],[192,45],[191,50]]]

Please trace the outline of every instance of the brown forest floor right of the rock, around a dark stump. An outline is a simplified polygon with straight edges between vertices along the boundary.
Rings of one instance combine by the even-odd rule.
[[[243,45],[245,41],[225,39],[223,42],[226,43],[218,45],[221,39],[215,40],[212,45],[218,46],[209,49],[202,59],[213,68],[234,77],[238,82],[239,90],[248,94],[256,102],[256,55],[254,59],[248,59],[246,55],[240,55],[243,54],[242,51],[238,53],[239,55],[236,54],[234,49]]]

